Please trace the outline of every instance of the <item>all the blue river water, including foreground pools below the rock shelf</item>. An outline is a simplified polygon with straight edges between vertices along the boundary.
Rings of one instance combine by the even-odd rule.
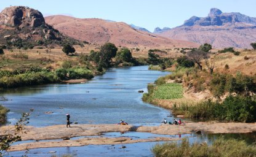
[[[80,84],[52,84],[3,90],[1,95],[8,101],[1,102],[10,109],[9,123],[14,124],[21,113],[31,114],[31,126],[49,126],[65,124],[66,113],[70,113],[71,121],[82,124],[113,124],[119,120],[134,125],[159,125],[170,111],[147,104],[142,101],[142,93],[148,83],[153,83],[168,72],[148,71],[148,66],[113,68]],[[53,113],[46,113],[53,112]],[[172,121],[172,118],[167,118]],[[179,137],[178,135],[156,135],[146,132],[108,132],[106,137],[132,137],[147,139],[150,137]],[[246,140],[249,144],[255,142],[255,133],[251,134],[184,134],[190,143],[207,142],[211,144],[217,137]],[[81,138],[81,137],[78,137]],[[60,139],[61,140],[61,139]],[[24,143],[22,141],[20,143]],[[27,141],[34,142],[34,141]],[[83,147],[37,148],[30,150],[28,156],[153,156],[151,148],[159,142],[140,142],[124,145],[87,145]],[[162,143],[162,142],[160,142]],[[17,142],[18,144],[18,142]],[[10,152],[6,156],[22,156],[25,151]]]

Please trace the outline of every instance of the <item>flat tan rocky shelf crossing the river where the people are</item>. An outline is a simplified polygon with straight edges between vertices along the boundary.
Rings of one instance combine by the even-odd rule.
[[[14,126],[2,126],[0,134],[5,132],[13,132]],[[65,125],[47,126],[36,128],[26,126],[21,134],[22,140],[50,140],[63,139],[65,137],[80,137],[80,136],[95,136],[101,135],[103,132],[151,132],[154,134],[188,134],[194,131],[211,132],[211,133],[245,133],[256,131],[256,123],[215,123],[215,122],[200,122],[186,123],[185,125],[170,125],[164,124],[161,126],[132,126],[132,125],[117,125],[117,124],[74,124],[71,128],[66,128]],[[130,144],[135,142],[153,142],[178,140],[167,137],[155,137],[151,139],[133,140],[129,137],[86,137],[78,140],[59,140],[52,142],[30,142],[26,144],[14,145],[10,151],[25,150],[26,148],[46,148],[46,147],[66,147],[66,146],[82,146],[82,145],[101,145],[101,144]]]

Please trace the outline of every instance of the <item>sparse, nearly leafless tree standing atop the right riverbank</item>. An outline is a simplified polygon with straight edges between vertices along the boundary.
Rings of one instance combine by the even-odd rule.
[[[193,61],[195,64],[198,64],[201,71],[202,71],[201,60],[209,58],[208,53],[200,49],[191,50],[190,52],[186,53],[186,55],[188,56],[188,58],[191,59],[191,61]]]

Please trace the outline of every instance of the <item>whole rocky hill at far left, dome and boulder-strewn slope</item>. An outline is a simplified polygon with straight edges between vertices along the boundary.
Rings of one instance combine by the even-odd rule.
[[[42,13],[23,6],[7,7],[0,13],[0,44],[33,47],[34,45],[79,44],[78,40],[63,36],[47,25]]]

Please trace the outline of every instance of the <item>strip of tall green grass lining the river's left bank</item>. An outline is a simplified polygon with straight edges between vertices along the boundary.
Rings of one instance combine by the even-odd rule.
[[[0,88],[14,88],[18,86],[57,83],[70,79],[92,79],[94,73],[89,69],[81,67],[57,69],[57,71],[33,67],[26,71],[0,71],[0,76]]]

